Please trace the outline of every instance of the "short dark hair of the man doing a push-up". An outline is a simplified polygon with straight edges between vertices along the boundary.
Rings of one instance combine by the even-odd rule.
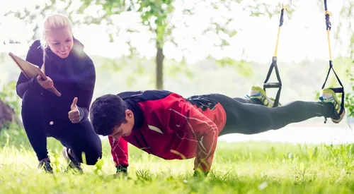
[[[116,125],[125,123],[127,103],[118,95],[103,95],[90,107],[90,120],[98,135],[110,135]]]

